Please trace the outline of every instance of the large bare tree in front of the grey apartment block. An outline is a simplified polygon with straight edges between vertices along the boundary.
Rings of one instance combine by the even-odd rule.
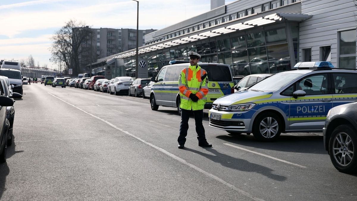
[[[50,60],[53,63],[61,60],[65,64],[63,67],[65,74],[68,73],[69,68],[73,69],[74,74],[80,73],[81,67],[93,61],[94,58],[90,57],[92,47],[90,41],[89,44],[87,42],[92,40],[90,36],[93,34],[90,31],[90,27],[85,23],[70,20],[52,36],[54,43],[50,48]],[[92,44],[95,46],[96,43],[92,42]]]

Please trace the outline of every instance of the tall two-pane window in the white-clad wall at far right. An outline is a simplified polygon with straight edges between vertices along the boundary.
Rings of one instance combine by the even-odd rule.
[[[339,32],[338,67],[356,68],[356,29]]]

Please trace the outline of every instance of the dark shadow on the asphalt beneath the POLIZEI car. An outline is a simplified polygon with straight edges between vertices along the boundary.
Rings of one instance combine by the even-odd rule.
[[[258,141],[252,134],[228,134],[216,138],[246,147],[284,152],[327,154],[323,147],[323,136],[281,135],[275,142]]]

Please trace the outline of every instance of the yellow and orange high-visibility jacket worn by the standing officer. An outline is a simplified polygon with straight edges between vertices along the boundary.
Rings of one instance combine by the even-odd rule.
[[[206,70],[201,69],[200,66],[190,65],[181,71],[178,78],[180,89],[181,104],[180,108],[187,110],[200,110],[205,107],[207,101],[206,94],[208,93],[208,78],[201,80],[201,76],[207,74]],[[190,94],[196,94],[197,102],[193,102]]]

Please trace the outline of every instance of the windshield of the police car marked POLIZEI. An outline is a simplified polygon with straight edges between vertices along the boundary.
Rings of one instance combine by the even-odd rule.
[[[248,90],[252,90],[252,91],[257,90],[262,92],[275,92],[276,90],[281,89],[286,84],[288,84],[289,82],[298,78],[301,75],[302,74],[300,73],[277,73],[256,83]]]

